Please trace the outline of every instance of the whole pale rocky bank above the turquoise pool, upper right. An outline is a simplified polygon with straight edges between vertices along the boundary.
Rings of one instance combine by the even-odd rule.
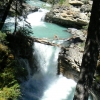
[[[82,28],[89,23],[91,7],[92,0],[69,0],[68,4],[53,6],[45,20],[65,27]]]

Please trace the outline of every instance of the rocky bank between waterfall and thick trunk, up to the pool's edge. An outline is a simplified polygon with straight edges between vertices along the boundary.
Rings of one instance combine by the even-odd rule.
[[[59,53],[58,74],[62,73],[64,76],[77,81],[86,35],[82,31],[74,28],[69,28],[68,31],[73,34],[73,36],[68,40],[70,42],[69,47],[67,47],[67,49],[62,48]]]

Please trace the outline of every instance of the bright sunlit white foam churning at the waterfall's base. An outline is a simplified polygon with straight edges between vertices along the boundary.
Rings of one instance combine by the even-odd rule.
[[[76,83],[60,75],[50,84],[41,100],[73,100]]]

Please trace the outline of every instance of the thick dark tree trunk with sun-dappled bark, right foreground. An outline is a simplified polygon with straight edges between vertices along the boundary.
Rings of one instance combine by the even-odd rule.
[[[80,78],[76,86],[73,100],[88,100],[96,64],[98,60],[98,39],[100,28],[100,0],[93,0],[88,35],[85,43]]]

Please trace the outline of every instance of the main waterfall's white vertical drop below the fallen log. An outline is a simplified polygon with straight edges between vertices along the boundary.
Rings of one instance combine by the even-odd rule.
[[[40,43],[35,43],[34,47],[37,64],[38,66],[40,66],[40,72],[46,75],[56,75],[57,59],[60,49],[57,47],[48,46]]]

